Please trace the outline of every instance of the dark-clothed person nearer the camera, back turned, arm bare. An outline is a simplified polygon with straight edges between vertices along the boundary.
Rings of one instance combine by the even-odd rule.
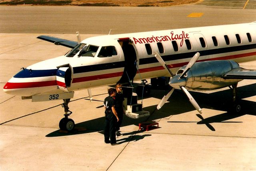
[[[104,141],[105,143],[111,143],[111,145],[118,145],[116,143],[116,129],[115,125],[119,121],[119,118],[116,114],[115,105],[116,100],[114,99],[116,96],[116,89],[110,88],[108,89],[109,96],[104,100],[104,108],[105,108],[105,128],[104,128]],[[110,139],[110,141],[109,141]]]

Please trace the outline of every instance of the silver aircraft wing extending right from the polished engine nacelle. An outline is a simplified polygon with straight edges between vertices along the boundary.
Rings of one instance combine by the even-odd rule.
[[[256,70],[237,68],[222,76],[224,79],[256,79]]]

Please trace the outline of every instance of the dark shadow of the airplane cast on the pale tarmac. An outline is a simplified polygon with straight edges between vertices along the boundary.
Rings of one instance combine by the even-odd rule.
[[[243,98],[255,96],[256,95],[255,90],[256,90],[256,83],[238,87],[237,98],[243,99]],[[168,90],[151,90],[150,97],[161,99],[166,92],[168,92]],[[230,108],[232,108],[233,106],[231,89],[221,90],[221,91],[213,92],[210,94],[203,93],[203,92],[190,92],[190,93],[194,97],[194,99],[198,102],[201,108],[228,111],[226,113],[218,114],[216,116],[211,116],[209,118],[203,118],[202,115],[197,114],[198,118],[200,118],[201,121],[199,122],[192,121],[197,124],[206,124],[206,126],[212,131],[215,131],[215,129],[210,125],[210,123],[216,123],[216,122],[217,123],[220,123],[220,122],[221,123],[240,123],[240,122],[231,122],[231,121],[227,122],[226,120],[238,118],[245,114],[256,116],[256,113],[255,113],[256,102],[252,102],[248,100],[240,100],[240,105],[241,105],[240,114],[235,114],[234,112],[232,112],[232,110],[230,110]],[[149,97],[145,97],[144,99],[146,98],[149,98]],[[156,106],[157,104],[143,108],[143,110],[150,112],[151,115],[148,117],[132,119],[124,115],[122,126],[129,126],[129,125],[138,126],[138,124],[142,122],[166,118],[172,115],[182,114],[185,112],[195,110],[192,104],[190,104],[188,98],[182,92],[182,90],[175,90],[172,96],[169,98],[169,102],[164,104],[164,106],[162,106],[162,108],[159,110],[159,111],[162,110],[165,112],[156,111]],[[100,108],[100,107],[102,106],[98,106],[97,108]],[[57,130],[55,132],[52,132],[46,135],[46,137],[70,136],[74,134],[87,134],[90,132],[100,132],[104,130],[104,119],[105,119],[104,117],[101,117],[101,118],[96,118],[93,120],[88,120],[88,121],[76,124],[76,127],[86,128],[87,131],[84,131],[84,132],[74,132],[70,134],[64,134],[64,133],[59,133]],[[179,122],[179,121],[173,121],[173,122]]]

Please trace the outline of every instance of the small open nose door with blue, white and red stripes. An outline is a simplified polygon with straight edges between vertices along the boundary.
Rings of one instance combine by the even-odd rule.
[[[73,73],[73,69],[69,64],[58,68],[56,81],[60,90],[70,91],[69,88],[72,85]]]

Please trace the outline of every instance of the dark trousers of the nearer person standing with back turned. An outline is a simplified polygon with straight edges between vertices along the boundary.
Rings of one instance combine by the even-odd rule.
[[[110,143],[116,143],[116,129],[115,129],[116,119],[114,117],[114,114],[107,114],[105,118],[106,118],[105,128],[104,128],[105,142],[108,142],[110,138]]]

